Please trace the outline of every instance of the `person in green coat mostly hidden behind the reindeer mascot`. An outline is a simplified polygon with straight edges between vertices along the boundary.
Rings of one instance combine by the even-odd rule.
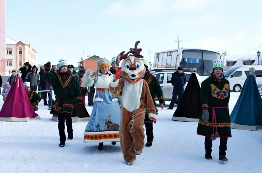
[[[148,87],[149,87],[151,96],[153,98],[153,102],[155,104],[155,107],[156,107],[156,103],[155,103],[154,98],[157,97],[158,100],[159,100],[160,107],[161,107],[161,109],[163,109],[164,105],[165,105],[165,100],[164,100],[164,97],[163,97],[163,93],[162,93],[162,89],[160,87],[160,84],[158,83],[155,76],[151,75],[150,71],[148,70],[148,63],[147,63],[146,59],[141,59],[141,60],[143,61],[144,66],[146,67],[146,73],[145,73],[143,79],[146,80],[146,82],[148,84]],[[156,112],[158,112],[157,108],[155,108],[155,109],[156,109]],[[144,123],[145,123],[145,127],[146,127],[146,136],[147,136],[146,147],[150,147],[150,146],[152,146],[152,142],[153,142],[153,138],[154,138],[153,121],[151,119],[149,119],[147,112],[146,112]]]

